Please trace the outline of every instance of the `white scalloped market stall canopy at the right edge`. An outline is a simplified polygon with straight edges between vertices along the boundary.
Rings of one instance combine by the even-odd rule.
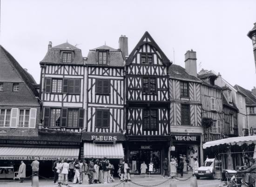
[[[216,145],[221,145],[221,144],[230,144],[230,145],[243,145],[244,143],[251,144],[254,143],[256,144],[256,135],[250,135],[250,136],[242,136],[242,137],[233,137],[233,138],[225,138],[221,140],[216,140],[216,141],[211,141],[211,142],[206,142],[202,145],[202,148],[209,148],[212,146]]]

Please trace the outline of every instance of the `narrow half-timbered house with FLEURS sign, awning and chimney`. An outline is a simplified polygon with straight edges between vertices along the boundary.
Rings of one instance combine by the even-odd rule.
[[[121,36],[119,46],[119,49],[97,47],[89,51],[86,59],[88,117],[86,131],[82,133],[82,158],[124,159],[124,57],[128,55],[128,38]],[[120,160],[114,162],[118,164]]]

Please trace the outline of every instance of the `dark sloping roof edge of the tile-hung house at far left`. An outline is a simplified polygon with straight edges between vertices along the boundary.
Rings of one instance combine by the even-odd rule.
[[[33,92],[34,96],[38,97],[39,93],[34,87],[34,84],[36,84],[36,82],[33,76],[29,74],[26,70],[24,70],[17,62],[17,60],[15,60],[15,58],[13,58],[13,56],[9,52],[7,52],[7,50],[2,45],[0,45],[0,53],[4,53],[7,56],[10,63],[12,63],[13,67],[18,71],[25,84],[27,84],[28,88]]]

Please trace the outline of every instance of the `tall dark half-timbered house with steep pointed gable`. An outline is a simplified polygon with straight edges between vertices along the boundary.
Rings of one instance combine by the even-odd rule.
[[[130,128],[126,156],[130,173],[140,173],[143,161],[162,173],[170,147],[168,68],[171,62],[148,32],[140,39],[125,65],[126,126]]]

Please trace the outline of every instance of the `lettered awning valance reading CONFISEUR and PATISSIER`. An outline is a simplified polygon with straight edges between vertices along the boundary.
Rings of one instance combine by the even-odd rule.
[[[78,157],[72,157],[72,156],[65,156],[65,157],[55,157],[55,156],[0,156],[0,160],[34,160],[34,158],[37,157],[40,161],[56,161],[58,158],[61,160],[67,159],[68,161],[74,160],[74,158]]]

